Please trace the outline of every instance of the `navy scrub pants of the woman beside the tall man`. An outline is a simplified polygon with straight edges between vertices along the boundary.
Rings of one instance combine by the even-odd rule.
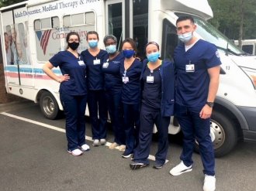
[[[149,164],[150,143],[152,141],[154,124],[158,131],[158,149],[155,155],[156,163],[163,165],[168,152],[168,126],[171,117],[162,117],[160,109],[153,109],[142,104],[140,109],[139,144],[134,150],[134,162]]]

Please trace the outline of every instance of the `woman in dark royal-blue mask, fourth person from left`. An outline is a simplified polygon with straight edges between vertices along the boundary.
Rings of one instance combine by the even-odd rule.
[[[120,66],[120,75],[123,80],[123,121],[126,133],[126,150],[122,157],[129,158],[133,155],[140,128],[140,73],[142,64],[134,58],[136,43],[133,39],[125,39],[121,47],[125,57]]]

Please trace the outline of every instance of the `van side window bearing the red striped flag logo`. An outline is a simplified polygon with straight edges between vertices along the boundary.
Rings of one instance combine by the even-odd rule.
[[[64,36],[59,26],[57,16],[34,21],[37,60],[46,62],[61,50],[61,39]]]

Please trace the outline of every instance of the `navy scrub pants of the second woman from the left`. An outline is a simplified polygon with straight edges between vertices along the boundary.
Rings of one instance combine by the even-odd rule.
[[[88,91],[88,109],[92,123],[92,139],[106,138],[108,109],[104,90]]]

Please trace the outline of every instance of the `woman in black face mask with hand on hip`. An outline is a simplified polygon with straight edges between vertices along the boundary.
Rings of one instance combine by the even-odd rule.
[[[43,71],[61,84],[61,104],[66,115],[67,152],[81,155],[83,151],[89,150],[85,144],[86,66],[77,52],[80,42],[78,33],[68,33],[66,40],[67,49],[45,63]],[[56,76],[52,71],[54,67],[60,67],[63,76]]]

